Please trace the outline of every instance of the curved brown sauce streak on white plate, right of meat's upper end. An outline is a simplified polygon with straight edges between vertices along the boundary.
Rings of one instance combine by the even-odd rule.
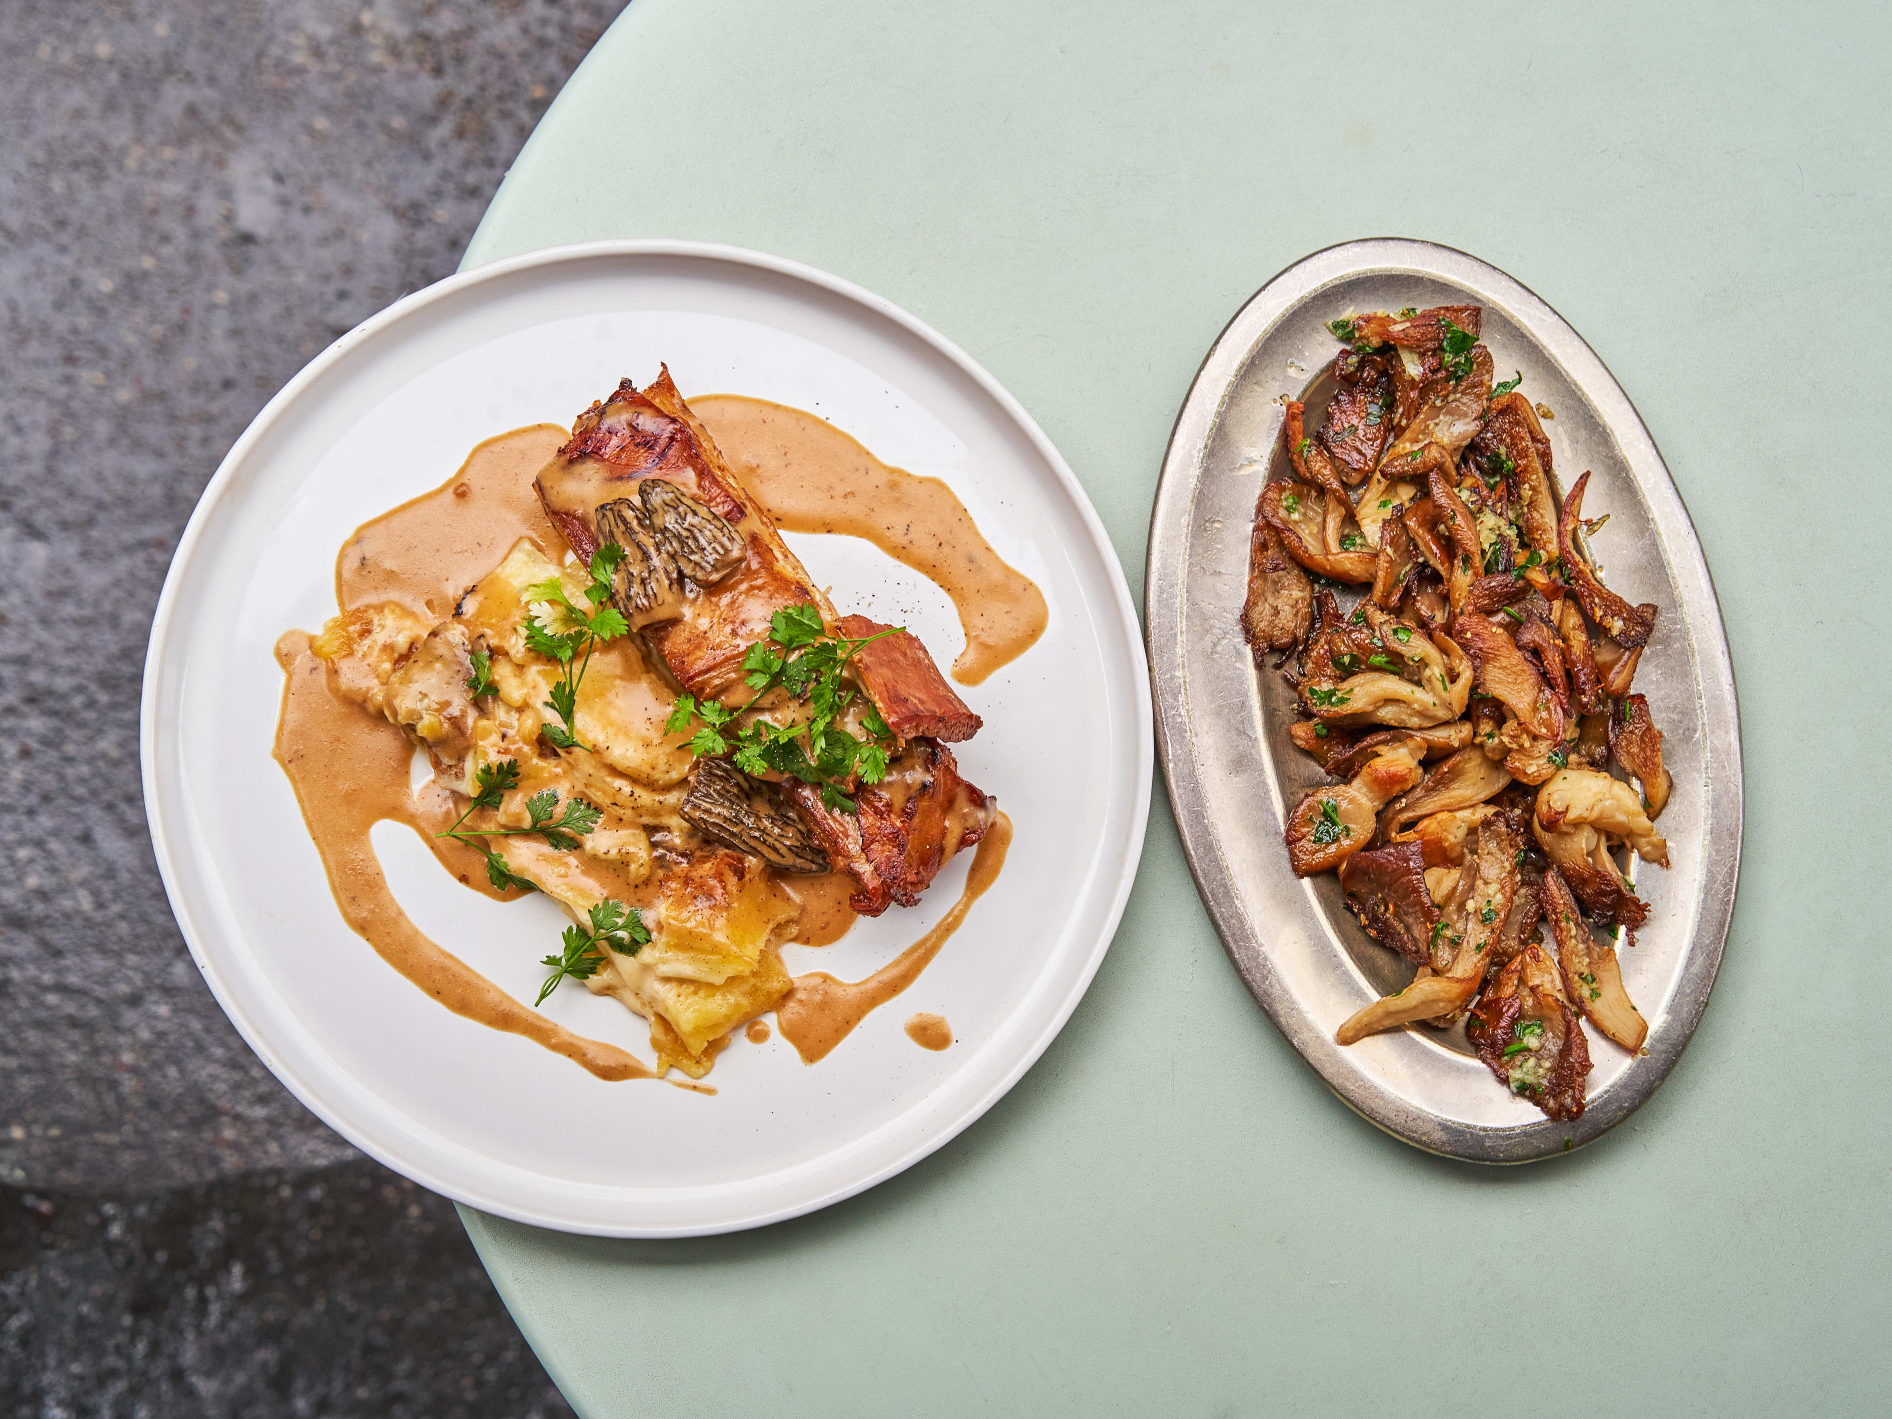
[[[938,479],[889,467],[825,418],[713,394],[691,399],[717,448],[787,532],[861,537],[944,590],[965,649],[952,675],[978,685],[1044,634],[1044,596],[1005,564]]]

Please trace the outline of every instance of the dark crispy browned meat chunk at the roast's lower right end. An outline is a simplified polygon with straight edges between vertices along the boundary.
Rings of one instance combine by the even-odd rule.
[[[880,916],[893,902],[912,906],[940,867],[986,836],[999,800],[959,778],[952,749],[933,740],[914,740],[885,787],[861,787],[857,812],[838,814],[808,783],[789,791],[836,872],[850,874],[859,891],[850,906],[861,916]],[[887,787],[899,783],[904,802]]]

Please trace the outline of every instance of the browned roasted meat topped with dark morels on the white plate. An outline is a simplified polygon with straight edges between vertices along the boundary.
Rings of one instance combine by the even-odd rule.
[[[780,611],[812,605],[832,634],[867,641],[846,674],[891,732],[895,757],[880,785],[850,781],[859,812],[823,804],[812,783],[700,759],[679,810],[691,827],[783,872],[850,872],[865,914],[914,904],[954,851],[978,842],[995,802],[959,778],[944,742],[972,738],[980,717],[916,636],[834,611],[668,369],[643,390],[624,380],[585,411],[537,490],[579,556],[607,541],[624,549],[611,598],[698,700],[732,694],[745,706],[749,653]]]

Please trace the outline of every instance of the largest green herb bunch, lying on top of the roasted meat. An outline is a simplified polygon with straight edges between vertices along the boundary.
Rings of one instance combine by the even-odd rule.
[[[778,725],[757,715],[740,730],[730,730],[742,708],[732,710],[717,700],[698,700],[679,694],[666,728],[681,734],[692,723],[702,728],[691,736],[691,753],[702,757],[730,755],[736,768],[751,778],[781,774],[821,789],[821,802],[834,812],[851,814],[853,798],[844,793],[850,778],[880,783],[887,776],[887,749],[893,730],[872,704],[861,713],[861,728],[868,738],[855,738],[836,725],[859,691],[844,672],[863,645],[893,636],[887,628],[859,639],[829,636],[821,611],[814,605],[791,605],[776,611],[768,622],[768,639],[757,641],[742,658],[747,672],[749,704],[757,704],[778,685],[793,698],[804,700],[814,717],[804,723]],[[744,706],[747,708],[747,706]]]

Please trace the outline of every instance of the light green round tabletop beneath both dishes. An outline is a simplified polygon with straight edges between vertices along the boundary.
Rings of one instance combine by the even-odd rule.
[[[1873,6],[630,8],[467,263],[687,236],[857,280],[1025,403],[1139,594],[1169,424],[1275,271],[1410,235],[1536,289],[1695,517],[1748,832],[1669,1084],[1497,1171],[1302,1065],[1158,795],[1071,1025],[912,1171],[702,1241],[465,1213],[585,1415],[1888,1411],[1888,61]]]

